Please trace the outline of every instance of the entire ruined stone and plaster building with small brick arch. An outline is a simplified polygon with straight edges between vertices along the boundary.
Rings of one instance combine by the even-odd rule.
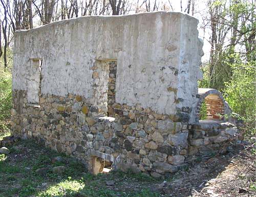
[[[223,151],[237,128],[222,94],[198,88],[197,24],[153,12],[16,31],[13,135],[72,155],[94,174],[111,167],[161,177]]]

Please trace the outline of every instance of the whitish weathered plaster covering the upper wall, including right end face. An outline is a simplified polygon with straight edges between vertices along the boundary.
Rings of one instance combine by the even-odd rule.
[[[186,36],[193,46],[186,43]],[[29,59],[41,58],[41,93],[80,94],[95,103],[98,98],[92,88],[91,68],[97,60],[117,59],[117,103],[140,104],[157,113],[174,114],[176,93],[167,88],[189,84],[189,88],[178,91],[178,97],[183,98],[196,91],[198,77],[194,74],[199,71],[195,65],[200,47],[197,19],[181,13],[87,16],[57,21],[15,33],[13,89],[28,90],[28,81],[33,78],[28,72]],[[184,57],[191,62],[189,59],[189,63],[183,64]],[[183,75],[180,71],[186,65]],[[179,105],[193,102],[188,97]]]

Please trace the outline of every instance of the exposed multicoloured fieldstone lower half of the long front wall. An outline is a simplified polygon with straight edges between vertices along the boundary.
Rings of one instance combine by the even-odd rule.
[[[58,152],[90,163],[93,157],[113,167],[144,171],[155,177],[174,173],[187,155],[187,123],[178,116],[115,104],[115,118],[96,117],[99,108],[80,95],[40,95],[28,104],[26,91],[13,91],[12,127]]]

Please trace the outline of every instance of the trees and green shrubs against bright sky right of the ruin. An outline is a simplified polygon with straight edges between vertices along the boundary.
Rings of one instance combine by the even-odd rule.
[[[209,11],[218,11],[219,36],[209,63],[202,66],[199,87],[215,88],[224,94],[234,113],[244,120],[246,135],[255,134],[255,5],[249,1],[213,1]],[[211,14],[215,14],[212,12]],[[227,22],[228,21],[228,22]],[[228,34],[223,32],[229,31]],[[229,39],[225,42],[225,39]]]

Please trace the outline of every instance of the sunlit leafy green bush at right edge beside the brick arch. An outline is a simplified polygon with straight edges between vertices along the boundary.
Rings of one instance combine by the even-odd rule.
[[[233,64],[233,76],[225,83],[224,96],[233,112],[242,116],[246,135],[255,135],[255,62]]]

